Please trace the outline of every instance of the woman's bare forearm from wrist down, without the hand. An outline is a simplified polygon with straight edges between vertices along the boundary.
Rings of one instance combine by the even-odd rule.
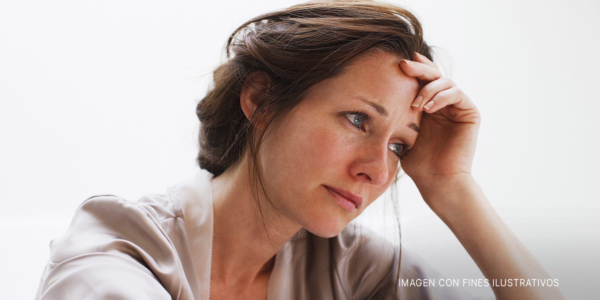
[[[550,278],[538,260],[500,219],[468,174],[417,184],[423,199],[448,225],[485,278]],[[497,299],[564,299],[557,287],[492,286]]]

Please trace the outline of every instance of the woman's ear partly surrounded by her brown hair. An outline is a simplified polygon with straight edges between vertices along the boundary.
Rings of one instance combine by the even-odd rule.
[[[244,115],[248,120],[252,120],[251,116],[254,110],[265,99],[268,86],[269,77],[261,71],[251,73],[244,80],[242,91],[239,93],[239,104],[241,104],[242,111],[244,111]]]

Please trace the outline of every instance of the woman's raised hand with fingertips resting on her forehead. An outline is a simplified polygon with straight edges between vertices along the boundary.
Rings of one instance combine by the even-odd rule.
[[[404,60],[400,68],[423,85],[412,106],[425,112],[421,133],[401,161],[404,172],[417,185],[470,175],[481,119],[477,107],[425,56],[415,53],[415,61]]]

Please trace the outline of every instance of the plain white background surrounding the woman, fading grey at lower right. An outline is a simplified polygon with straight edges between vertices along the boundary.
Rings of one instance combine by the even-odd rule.
[[[295,1],[2,1],[0,298],[32,299],[80,202],[196,173],[197,101],[237,26]],[[598,1],[406,1],[482,113],[473,173],[567,299],[600,277]],[[399,184],[403,247],[484,278]],[[491,295],[488,288],[467,292]]]

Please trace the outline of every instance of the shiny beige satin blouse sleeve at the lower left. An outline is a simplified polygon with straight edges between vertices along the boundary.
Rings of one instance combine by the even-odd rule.
[[[98,196],[79,206],[50,243],[36,300],[185,299],[193,296],[177,251],[151,206]]]

